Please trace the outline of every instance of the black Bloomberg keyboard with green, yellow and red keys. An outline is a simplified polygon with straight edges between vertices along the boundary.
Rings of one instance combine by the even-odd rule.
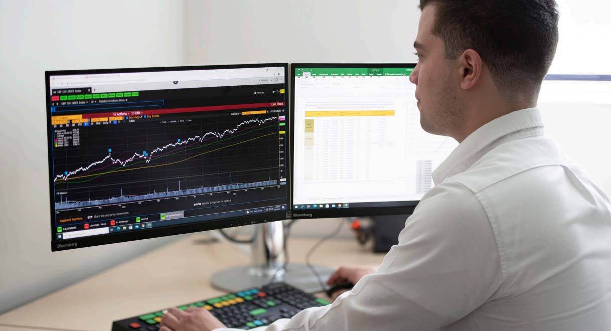
[[[225,326],[248,330],[266,326],[280,318],[291,318],[299,311],[321,307],[329,302],[307,294],[285,283],[273,283],[262,288],[245,289],[221,297],[201,300],[177,307],[201,307],[210,311]],[[134,316],[112,322],[112,331],[157,331],[161,316],[167,310]]]

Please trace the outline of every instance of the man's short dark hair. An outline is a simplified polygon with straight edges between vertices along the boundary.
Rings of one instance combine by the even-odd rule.
[[[420,9],[429,4],[447,59],[474,49],[499,89],[540,89],[558,45],[555,0],[420,0]]]

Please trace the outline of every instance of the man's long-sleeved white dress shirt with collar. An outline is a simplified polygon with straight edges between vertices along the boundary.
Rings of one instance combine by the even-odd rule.
[[[609,198],[538,109],[481,126],[433,180],[375,274],[255,330],[611,330]]]

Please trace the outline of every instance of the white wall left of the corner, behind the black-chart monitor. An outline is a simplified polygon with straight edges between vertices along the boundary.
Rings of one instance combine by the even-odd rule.
[[[180,65],[183,9],[0,0],[0,313],[176,239],[51,252],[44,71]]]

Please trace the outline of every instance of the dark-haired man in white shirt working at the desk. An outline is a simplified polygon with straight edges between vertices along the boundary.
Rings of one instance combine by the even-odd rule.
[[[351,291],[258,330],[611,330],[611,204],[535,108],[558,42],[554,0],[420,9],[420,122],[460,145],[377,271],[340,269],[329,282]],[[161,324],[224,328],[198,308]]]

